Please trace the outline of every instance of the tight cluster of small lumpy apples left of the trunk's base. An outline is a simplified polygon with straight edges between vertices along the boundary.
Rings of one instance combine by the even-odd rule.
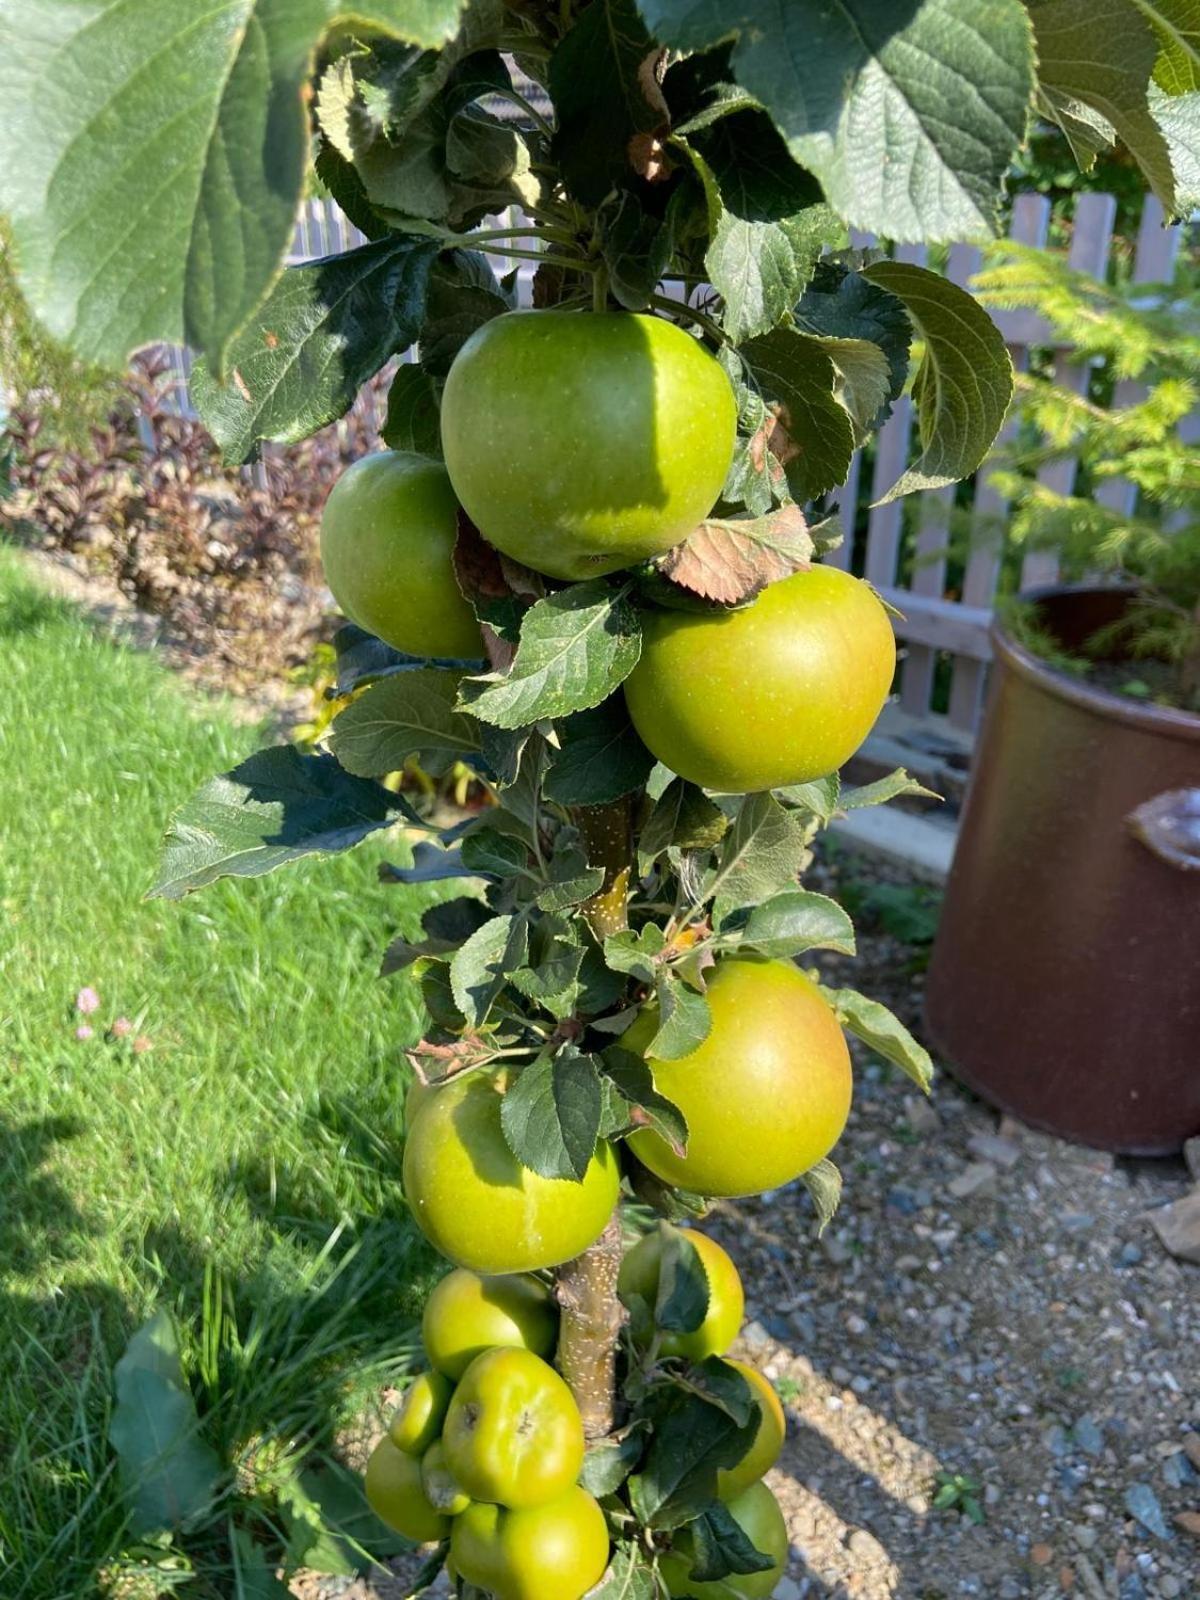
[[[429,1371],[366,1466],[366,1499],[397,1533],[450,1539],[448,1565],[494,1600],[579,1600],[605,1573],[605,1514],[578,1483],[584,1426],[549,1365],[550,1291],[526,1274],[456,1269],[429,1298]]]

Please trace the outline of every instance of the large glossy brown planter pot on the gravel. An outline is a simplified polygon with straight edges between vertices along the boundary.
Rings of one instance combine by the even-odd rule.
[[[1064,646],[1114,589],[1050,589]],[[995,666],[926,987],[931,1043],[1038,1128],[1139,1155],[1200,1133],[1200,872],[1130,816],[1200,786],[1200,717],[1059,672],[992,630]]]

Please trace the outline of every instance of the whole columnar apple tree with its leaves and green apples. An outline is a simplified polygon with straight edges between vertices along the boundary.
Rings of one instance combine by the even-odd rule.
[[[458,883],[382,960],[426,1002],[405,1194],[456,1274],[366,1493],[437,1541],[424,1581],[448,1558],[462,1600],[774,1589],[781,1418],[723,1358],[733,1262],[675,1222],[800,1178],[830,1214],[843,1030],[930,1074],[883,1006],[795,965],[853,950],[802,886],[813,838],[909,786],[840,787],[894,646],[870,589],[814,565],[811,507],[915,342],[920,454],[893,496],[973,472],[1011,395],[976,301],[848,229],[989,234],[1032,109],[1088,158],[1114,78],[1134,158],[1190,205],[1190,43],[1122,0],[1096,72],[1088,11],[0,11],[0,130],[37,152],[0,197],[29,294],[80,349],[184,336],[235,461],[419,352],[390,454],[326,510],[358,624],[336,686],[362,693],[320,752],[262,750],[184,805],[155,893],[392,827],[429,837],[387,882]],[[280,272],[310,150],[366,243]],[[488,258],[533,269],[533,310]],[[469,762],[491,805],[424,824],[379,781],[413,757]],[[664,1218],[624,1261],[622,1195]],[[152,1421],[157,1456],[122,1440],[142,1469],[178,1443]],[[234,1538],[243,1592],[277,1594],[288,1547]]]

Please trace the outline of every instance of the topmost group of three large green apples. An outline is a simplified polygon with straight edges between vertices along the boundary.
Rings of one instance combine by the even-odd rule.
[[[736,421],[720,363],[662,317],[493,317],[445,382],[445,462],[381,451],[334,485],[326,582],[352,622],[397,650],[475,659],[480,629],[451,562],[459,506],[502,555],[544,578],[637,566],[712,512]],[[750,794],[842,766],[894,670],[875,592],[814,566],[738,611],[646,606],[624,694],[642,741],[674,773]]]

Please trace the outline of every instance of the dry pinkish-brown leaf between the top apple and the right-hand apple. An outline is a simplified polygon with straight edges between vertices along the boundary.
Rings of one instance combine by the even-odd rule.
[[[765,517],[709,517],[667,550],[658,568],[706,600],[739,605],[766,584],[805,571],[811,560],[805,514],[798,506],[781,506]]]

